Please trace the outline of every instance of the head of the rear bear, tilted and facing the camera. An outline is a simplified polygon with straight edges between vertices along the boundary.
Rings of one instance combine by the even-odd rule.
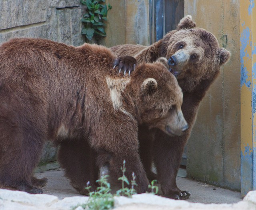
[[[212,33],[197,28],[190,15],[182,18],[177,29],[162,41],[161,51],[166,53],[170,71],[183,91],[194,91],[202,80],[215,79],[220,66],[230,58],[230,52],[219,47]]]

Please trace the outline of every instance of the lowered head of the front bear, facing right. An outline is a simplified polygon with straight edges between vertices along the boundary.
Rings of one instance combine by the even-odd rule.
[[[188,129],[181,110],[183,93],[168,71],[166,58],[138,65],[129,84],[138,90],[135,95],[140,124],[158,128],[171,136],[182,135]]]

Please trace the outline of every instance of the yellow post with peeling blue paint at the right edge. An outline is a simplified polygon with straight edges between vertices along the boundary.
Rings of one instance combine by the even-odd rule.
[[[240,2],[241,193],[256,189],[256,7]]]

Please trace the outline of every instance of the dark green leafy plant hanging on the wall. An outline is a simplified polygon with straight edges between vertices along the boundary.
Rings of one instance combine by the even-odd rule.
[[[104,4],[105,0],[80,0],[80,2],[86,5],[86,13],[81,21],[84,24],[82,28],[82,34],[86,36],[88,40],[91,40],[93,36],[106,36],[103,22],[107,20],[108,10],[112,8],[110,4],[108,6]]]

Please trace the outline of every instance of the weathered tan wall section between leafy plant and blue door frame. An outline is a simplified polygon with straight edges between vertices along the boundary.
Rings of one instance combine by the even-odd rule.
[[[106,38],[100,44],[107,47],[118,44],[149,45],[148,0],[106,0],[112,9],[108,11]]]

